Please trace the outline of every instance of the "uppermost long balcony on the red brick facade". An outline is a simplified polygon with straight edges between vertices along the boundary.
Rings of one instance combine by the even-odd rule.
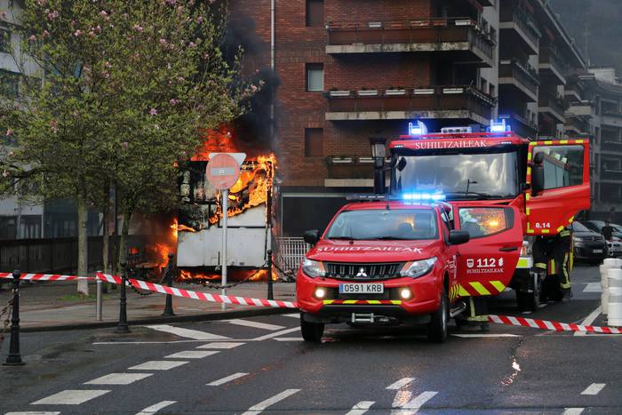
[[[434,52],[493,66],[496,39],[470,18],[329,22],[326,53]]]

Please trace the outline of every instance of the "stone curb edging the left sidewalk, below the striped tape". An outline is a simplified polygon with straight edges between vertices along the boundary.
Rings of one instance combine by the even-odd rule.
[[[184,322],[209,322],[214,320],[225,320],[238,317],[258,317],[261,315],[281,315],[295,313],[291,308],[251,308],[246,310],[220,311],[203,315],[171,315],[170,317],[143,318],[140,320],[128,321],[128,325],[143,325],[154,323],[184,323]],[[118,322],[101,323],[73,323],[49,325],[44,327],[20,327],[20,332],[36,333],[42,331],[66,331],[66,330],[86,330],[86,329],[105,329],[116,327]]]

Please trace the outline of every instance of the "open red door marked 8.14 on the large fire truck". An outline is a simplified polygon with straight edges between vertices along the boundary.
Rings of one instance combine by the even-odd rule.
[[[590,208],[589,143],[533,141],[527,159],[531,188],[525,193],[525,233],[556,235],[578,211]]]

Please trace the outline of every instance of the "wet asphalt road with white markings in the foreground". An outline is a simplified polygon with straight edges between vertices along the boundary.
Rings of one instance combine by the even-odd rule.
[[[531,316],[596,317],[600,293],[589,283],[599,281],[598,267],[576,268],[573,281],[569,305]],[[509,294],[490,312],[516,315]],[[313,345],[298,327],[297,315],[271,315],[132,327],[129,335],[25,333],[27,364],[0,366],[0,414],[622,412],[615,336],[493,324],[480,337],[451,326],[450,339],[435,345],[416,328],[344,324]]]

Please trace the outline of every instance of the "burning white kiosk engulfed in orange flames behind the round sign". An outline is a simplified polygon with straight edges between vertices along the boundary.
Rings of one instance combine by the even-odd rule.
[[[235,149],[226,128],[209,132],[202,150],[180,173],[177,266],[182,278],[219,277],[223,212],[219,190],[206,180],[205,169],[209,153]],[[232,280],[255,275],[253,271],[265,266],[267,250],[271,249],[276,160],[274,155],[249,153],[228,196],[227,267]]]

